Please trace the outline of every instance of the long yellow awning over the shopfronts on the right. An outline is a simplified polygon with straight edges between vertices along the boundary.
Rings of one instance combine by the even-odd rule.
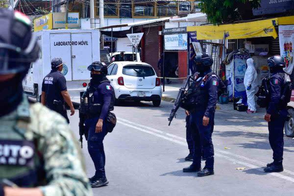
[[[187,26],[187,31],[196,31],[198,40],[221,40],[224,34],[226,34],[227,39],[245,39],[253,37],[276,38],[278,34],[274,28],[274,24],[277,24],[277,19],[229,25]]]

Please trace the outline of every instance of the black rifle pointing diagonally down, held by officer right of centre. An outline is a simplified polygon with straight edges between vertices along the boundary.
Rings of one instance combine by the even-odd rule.
[[[174,101],[174,105],[172,107],[172,111],[169,117],[169,126],[172,123],[173,118],[176,118],[176,112],[179,109],[179,107],[181,106],[181,103],[183,102],[183,100],[187,97],[187,95],[190,93],[190,87],[192,86],[192,83],[194,82],[194,79],[191,75],[189,75],[187,77],[187,82],[185,84],[185,86],[183,86],[182,88],[179,89],[179,93]],[[187,90],[186,90],[187,89]]]

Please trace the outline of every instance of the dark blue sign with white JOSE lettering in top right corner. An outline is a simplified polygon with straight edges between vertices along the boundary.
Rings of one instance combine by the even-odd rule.
[[[293,9],[294,0],[261,0],[260,7],[253,9],[253,15],[275,14]]]

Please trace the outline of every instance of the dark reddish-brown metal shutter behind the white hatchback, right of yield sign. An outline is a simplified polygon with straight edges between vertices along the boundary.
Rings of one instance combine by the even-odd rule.
[[[157,75],[160,71],[157,68],[159,60],[159,35],[158,26],[144,28],[144,62],[150,64]]]

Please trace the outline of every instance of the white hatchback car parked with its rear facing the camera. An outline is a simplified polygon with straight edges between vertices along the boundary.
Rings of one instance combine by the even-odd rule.
[[[114,88],[116,101],[152,101],[159,106],[162,97],[160,78],[151,65],[142,62],[120,61],[108,66],[107,78]]]

